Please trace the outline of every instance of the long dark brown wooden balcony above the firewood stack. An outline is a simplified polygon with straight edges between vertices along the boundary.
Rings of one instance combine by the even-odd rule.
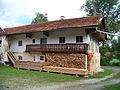
[[[32,44],[26,45],[26,52],[79,52],[87,53],[88,44]]]

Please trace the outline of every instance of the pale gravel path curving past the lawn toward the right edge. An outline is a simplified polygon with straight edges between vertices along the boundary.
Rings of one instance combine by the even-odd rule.
[[[120,72],[120,68],[105,67],[112,69],[113,74],[100,79],[79,80],[75,82],[66,82],[57,85],[43,87],[29,87],[25,90],[101,90],[105,85],[120,83],[120,79],[109,79]]]

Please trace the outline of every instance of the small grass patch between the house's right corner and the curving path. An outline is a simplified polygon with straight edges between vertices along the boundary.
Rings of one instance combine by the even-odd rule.
[[[108,76],[110,74],[112,74],[112,70],[104,69],[104,72],[100,72],[100,73],[91,75],[90,78],[103,78],[103,77]]]

